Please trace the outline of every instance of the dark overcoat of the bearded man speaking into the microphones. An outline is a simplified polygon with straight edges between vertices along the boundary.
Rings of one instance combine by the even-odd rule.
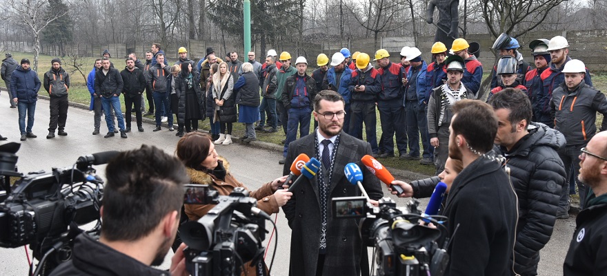
[[[315,135],[316,131],[290,143],[283,174],[286,175],[290,172],[291,163],[300,153],[306,153],[310,158],[316,156]],[[361,195],[357,185],[350,184],[344,174],[344,167],[350,162],[355,162],[361,167],[364,173],[363,186],[372,200],[379,200],[384,195],[379,180],[361,162],[361,158],[366,154],[371,154],[368,142],[353,138],[344,132],[341,133],[329,189],[330,198]],[[358,230],[359,220],[333,220],[331,209],[329,200],[327,251],[323,275],[360,275],[363,247]],[[317,177],[301,182],[294,187],[293,196],[283,206],[283,211],[292,229],[289,274],[291,276],[313,276],[316,273],[321,235],[321,208]]]

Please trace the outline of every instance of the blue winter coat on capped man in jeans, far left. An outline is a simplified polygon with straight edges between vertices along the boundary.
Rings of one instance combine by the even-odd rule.
[[[17,98],[22,103],[34,103],[38,100],[41,83],[36,71],[17,67],[10,78],[10,98]]]

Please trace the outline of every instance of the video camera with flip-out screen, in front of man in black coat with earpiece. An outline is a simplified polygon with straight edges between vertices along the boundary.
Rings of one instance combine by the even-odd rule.
[[[418,205],[419,201],[411,200],[401,209],[394,200],[382,198],[374,207],[364,196],[333,198],[332,215],[337,219],[362,218],[359,232],[363,244],[375,248],[378,276],[441,276],[449,260],[446,251],[437,246],[441,231],[421,225],[419,220],[444,226],[432,217],[424,217]]]

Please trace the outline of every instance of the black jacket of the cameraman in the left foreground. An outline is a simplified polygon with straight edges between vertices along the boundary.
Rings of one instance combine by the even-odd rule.
[[[83,233],[74,240],[72,259],[57,266],[50,275],[169,276],[170,273],[142,264]]]

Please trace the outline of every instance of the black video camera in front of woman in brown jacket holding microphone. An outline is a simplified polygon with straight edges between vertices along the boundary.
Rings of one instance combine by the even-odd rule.
[[[230,195],[219,195],[208,185],[187,184],[184,189],[185,204],[217,204],[200,220],[179,226],[181,240],[188,245],[188,271],[194,276],[239,276],[251,261],[257,275],[268,275],[261,242],[266,237],[264,220],[272,220],[256,207],[257,200],[242,187]]]

